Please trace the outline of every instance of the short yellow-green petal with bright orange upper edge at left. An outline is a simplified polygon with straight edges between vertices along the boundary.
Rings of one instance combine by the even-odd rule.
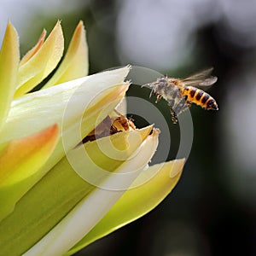
[[[0,221],[13,211],[15,203],[38,181],[39,168],[52,153],[58,128],[53,125],[30,137],[5,145],[0,154]]]

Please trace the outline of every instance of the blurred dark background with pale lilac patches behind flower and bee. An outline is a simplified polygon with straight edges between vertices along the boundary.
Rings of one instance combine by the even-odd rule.
[[[154,211],[77,255],[256,255],[255,0],[0,3],[0,39],[11,20],[22,54],[58,19],[67,46],[84,20],[90,73],[130,63],[174,77],[214,67],[218,76],[208,91],[218,112],[191,108],[194,142],[177,188]],[[138,86],[128,92],[145,99],[148,94]],[[168,159],[173,159],[179,126],[172,125],[166,102],[157,108],[169,124]],[[144,125],[143,119],[131,117]]]

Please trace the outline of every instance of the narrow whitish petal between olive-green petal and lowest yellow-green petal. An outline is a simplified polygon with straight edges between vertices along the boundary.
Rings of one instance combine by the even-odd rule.
[[[131,133],[134,132],[137,131]],[[143,171],[154,154],[157,141],[157,132],[147,137],[137,154],[126,160],[116,169],[115,175],[109,175],[108,179],[102,183],[102,189],[95,189],[83,201],[80,201],[73,211],[67,214],[67,217],[63,218],[47,236],[44,236],[24,255],[62,255],[67,252],[68,248],[88,233],[115,201],[124,194],[124,189],[114,189],[115,186],[121,183],[124,188],[129,188],[132,181]],[[136,143],[136,140],[131,139],[131,145],[133,142]],[[109,189],[104,189],[108,186],[110,186]]]

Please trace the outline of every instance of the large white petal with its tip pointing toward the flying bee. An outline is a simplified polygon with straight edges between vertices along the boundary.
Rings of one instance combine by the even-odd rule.
[[[82,103],[89,104],[100,91],[103,91],[104,96],[105,90],[115,84],[122,84],[129,70],[130,67],[122,67],[96,73],[16,99],[12,102],[6,124],[0,132],[0,143],[26,137],[55,123],[61,126],[63,113],[74,93],[78,100],[73,101],[75,106],[68,107],[73,107],[73,119],[76,119],[84,111],[79,108]]]

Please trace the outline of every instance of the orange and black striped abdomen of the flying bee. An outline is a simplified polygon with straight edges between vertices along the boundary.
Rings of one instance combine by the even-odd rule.
[[[193,86],[185,86],[182,94],[183,96],[187,96],[188,102],[193,102],[202,108],[218,110],[218,105],[212,96],[208,95],[207,92],[201,89]]]

